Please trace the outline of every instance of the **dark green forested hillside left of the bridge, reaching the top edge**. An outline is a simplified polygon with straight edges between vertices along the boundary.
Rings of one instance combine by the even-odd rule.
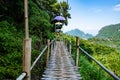
[[[32,38],[32,60],[46,44],[54,38],[54,26],[51,20],[60,15],[70,18],[69,5],[57,0],[29,0],[29,33]],[[25,35],[24,1],[0,0],[0,80],[15,80],[22,72],[22,44]],[[41,66],[44,67],[44,59]],[[43,70],[43,68],[41,68]],[[40,72],[40,71],[39,71]],[[41,74],[41,73],[40,73]]]

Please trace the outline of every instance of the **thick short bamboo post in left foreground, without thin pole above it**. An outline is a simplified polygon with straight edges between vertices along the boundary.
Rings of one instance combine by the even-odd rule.
[[[24,39],[23,42],[23,72],[27,73],[25,80],[31,80],[31,39]]]

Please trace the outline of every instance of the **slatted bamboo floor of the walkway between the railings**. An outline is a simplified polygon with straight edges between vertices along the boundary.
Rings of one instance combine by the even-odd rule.
[[[78,68],[74,66],[63,42],[56,42],[41,80],[81,80]]]

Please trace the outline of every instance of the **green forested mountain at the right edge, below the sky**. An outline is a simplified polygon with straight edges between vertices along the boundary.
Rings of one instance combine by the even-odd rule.
[[[96,37],[120,39],[120,23],[103,27]]]

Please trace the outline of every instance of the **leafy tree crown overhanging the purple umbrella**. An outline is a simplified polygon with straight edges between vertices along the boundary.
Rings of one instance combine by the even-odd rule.
[[[57,0],[36,0],[36,3],[39,6],[39,8],[45,10],[50,15],[50,20],[62,13],[66,19],[65,24],[68,24],[67,19],[71,18],[71,16],[68,12],[69,5],[67,4],[67,2],[63,1],[58,3]]]

